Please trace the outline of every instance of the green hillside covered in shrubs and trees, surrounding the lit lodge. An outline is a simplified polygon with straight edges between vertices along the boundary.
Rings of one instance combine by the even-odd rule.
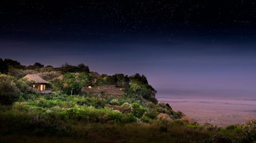
[[[1,142],[256,141],[256,120],[226,129],[183,120],[181,111],[158,103],[144,75],[100,75],[84,64],[54,68],[0,59],[0,65]],[[32,90],[32,81],[22,78],[27,74],[50,81],[54,92]]]

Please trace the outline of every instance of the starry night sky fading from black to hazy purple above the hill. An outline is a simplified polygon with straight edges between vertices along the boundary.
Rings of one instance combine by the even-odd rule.
[[[256,98],[254,1],[1,1],[0,58],[146,75],[161,95]]]

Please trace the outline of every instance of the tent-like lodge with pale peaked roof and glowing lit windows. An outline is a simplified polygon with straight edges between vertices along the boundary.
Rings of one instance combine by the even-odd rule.
[[[28,74],[23,78],[33,81],[33,90],[38,90],[40,93],[52,93],[52,89],[49,89],[49,81],[42,79],[37,74]],[[47,89],[48,88],[48,89]]]

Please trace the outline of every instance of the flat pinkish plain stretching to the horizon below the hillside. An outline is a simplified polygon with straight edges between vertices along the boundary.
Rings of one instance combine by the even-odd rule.
[[[169,103],[175,110],[194,118],[199,124],[208,122],[221,127],[243,124],[256,117],[256,100],[203,99],[203,98],[158,98]]]

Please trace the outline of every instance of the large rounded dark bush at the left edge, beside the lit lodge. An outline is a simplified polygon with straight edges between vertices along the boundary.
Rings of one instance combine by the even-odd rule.
[[[18,98],[15,78],[0,74],[0,104],[10,105]]]

